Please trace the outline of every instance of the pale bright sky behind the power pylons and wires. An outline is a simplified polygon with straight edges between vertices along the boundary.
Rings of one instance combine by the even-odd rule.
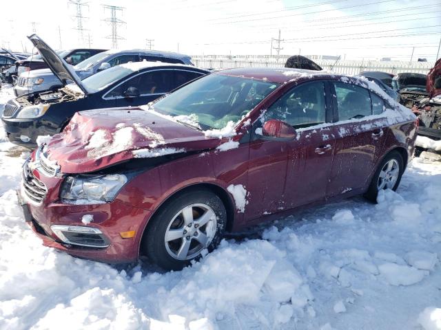
[[[189,55],[270,54],[280,29],[280,54],[409,61],[415,47],[413,61],[434,61],[441,38],[440,0],[90,0],[83,6],[86,45],[90,34],[92,47],[112,47],[103,4],[124,7],[117,17],[126,24],[117,32],[125,49],[146,48],[145,39],[154,39],[156,50]],[[1,12],[0,45],[32,50],[25,36],[36,22],[37,34],[54,49],[80,46],[68,0],[2,1]]]

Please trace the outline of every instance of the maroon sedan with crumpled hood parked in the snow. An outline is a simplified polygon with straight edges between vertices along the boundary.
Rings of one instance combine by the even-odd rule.
[[[365,78],[225,70],[144,109],[76,113],[23,165],[19,199],[45,245],[177,270],[225,231],[395,190],[416,125]]]

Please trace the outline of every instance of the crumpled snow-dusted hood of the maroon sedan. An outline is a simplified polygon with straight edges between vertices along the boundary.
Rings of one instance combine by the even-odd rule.
[[[90,173],[132,158],[216,148],[222,140],[139,108],[75,113],[45,153],[61,173]]]

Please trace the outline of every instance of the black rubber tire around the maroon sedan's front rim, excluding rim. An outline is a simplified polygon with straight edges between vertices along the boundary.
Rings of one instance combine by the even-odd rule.
[[[141,254],[147,255],[148,259],[164,270],[181,270],[183,267],[189,265],[191,261],[181,261],[174,259],[167,252],[164,243],[165,232],[170,223],[170,220],[180,210],[194,203],[204,203],[216,214],[217,228],[216,234],[209,244],[207,250],[212,252],[214,248],[220,243],[223,233],[227,225],[227,211],[223,205],[222,200],[210,190],[191,190],[176,197],[171,197],[163,206],[154,214],[143,235],[141,244]],[[201,255],[196,256],[192,260],[197,260]]]

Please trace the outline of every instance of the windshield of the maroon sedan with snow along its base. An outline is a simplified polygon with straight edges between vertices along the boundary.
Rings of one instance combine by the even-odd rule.
[[[153,104],[164,115],[189,115],[203,129],[238,122],[278,85],[262,80],[211,74]]]

